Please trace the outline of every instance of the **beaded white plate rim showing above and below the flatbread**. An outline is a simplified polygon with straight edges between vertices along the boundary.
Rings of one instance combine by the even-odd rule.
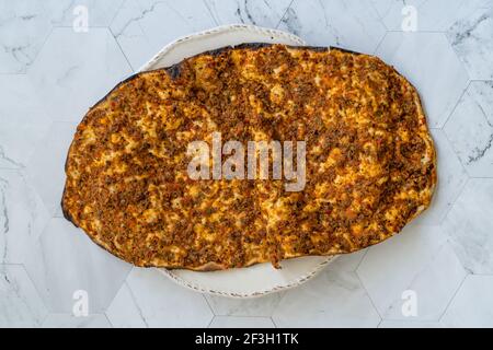
[[[307,43],[301,39],[300,37],[284,32],[274,28],[267,28],[267,27],[261,27],[252,24],[226,24],[226,25],[219,25],[216,27],[211,27],[209,30],[192,33],[185,36],[181,36],[176,38],[175,40],[165,45],[161,50],[159,50],[150,60],[148,60],[146,63],[144,63],[137,71],[147,71],[152,69],[152,66],[156,65],[162,57],[164,57],[168,52],[170,52],[174,47],[191,42],[200,37],[210,36],[218,33],[225,33],[225,32],[240,32],[240,31],[246,31],[246,32],[256,32],[260,34],[267,34],[275,38],[286,38],[294,43],[298,43],[299,45],[306,45]],[[263,295],[267,295],[271,293],[276,293],[280,291],[286,291],[289,289],[293,289],[295,287],[301,285],[302,283],[307,282],[314,276],[317,276],[325,266],[328,266],[330,262],[334,261],[339,255],[333,256],[319,256],[322,257],[323,260],[319,262],[314,268],[310,269],[307,273],[303,273],[299,276],[296,279],[293,279],[291,281],[286,282],[285,284],[280,285],[274,285],[267,289],[254,291],[254,292],[231,292],[231,291],[221,291],[221,290],[215,290],[210,288],[206,288],[200,285],[199,283],[191,282],[188,280],[185,280],[181,278],[180,276],[173,273],[173,269],[167,269],[167,268],[153,268],[158,270],[161,275],[168,277],[176,284],[180,284],[182,287],[185,287],[188,290],[193,290],[200,293],[206,293],[210,295],[219,295],[219,296],[227,296],[231,299],[253,299],[253,298],[260,298]],[[300,257],[302,258],[302,257]],[[207,273],[207,272],[200,272],[200,273]]]

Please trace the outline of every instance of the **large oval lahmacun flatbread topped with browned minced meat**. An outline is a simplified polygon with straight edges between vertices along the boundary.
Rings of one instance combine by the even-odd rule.
[[[193,179],[187,145],[306,142],[306,184]],[[214,165],[214,164],[213,164]],[[249,44],[141,72],[94,105],[66,218],[137,266],[215,270],[379,243],[426,209],[435,150],[416,90],[379,58]]]

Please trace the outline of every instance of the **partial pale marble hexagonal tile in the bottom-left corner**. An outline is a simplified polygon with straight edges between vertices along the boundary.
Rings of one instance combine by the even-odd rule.
[[[46,314],[24,268],[0,265],[0,327],[39,327]]]

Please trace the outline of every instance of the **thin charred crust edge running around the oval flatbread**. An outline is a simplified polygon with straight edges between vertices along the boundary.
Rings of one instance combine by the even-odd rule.
[[[216,56],[216,55],[220,55],[220,54],[222,54],[222,52],[225,52],[225,51],[229,51],[229,50],[233,50],[233,49],[250,49],[250,50],[256,50],[256,49],[260,49],[260,48],[263,48],[263,47],[270,47],[270,46],[274,46],[274,45],[278,45],[278,44],[249,43],[249,44],[240,44],[240,45],[236,45],[236,46],[225,46],[225,47],[221,47],[221,48],[218,48],[218,49],[208,50],[208,51],[204,51],[204,52],[202,52],[202,54],[194,55],[194,56],[192,56],[192,57],[190,57],[190,58],[186,58],[186,59],[184,59],[184,60],[182,60],[182,61],[180,61],[180,62],[177,62],[177,63],[175,63],[175,65],[172,65],[172,66],[170,66],[170,67],[159,68],[159,69],[154,69],[154,70],[149,70],[149,71],[146,71],[146,72],[138,72],[138,73],[135,73],[135,74],[128,77],[127,79],[123,80],[122,82],[119,82],[119,83],[118,83],[115,88],[113,88],[113,89],[112,89],[104,97],[102,97],[100,101],[98,101],[98,102],[96,102],[96,103],[88,110],[88,113],[84,115],[84,117],[82,118],[82,120],[81,120],[81,122],[79,124],[79,126],[87,124],[87,122],[88,122],[88,119],[89,119],[90,113],[91,113],[93,109],[95,109],[101,103],[105,102],[114,91],[116,91],[117,89],[119,89],[123,84],[125,84],[125,83],[127,83],[127,82],[129,82],[129,81],[131,81],[131,80],[134,80],[134,79],[138,79],[140,75],[144,75],[144,74],[150,73],[150,72],[164,71],[164,72],[168,73],[168,75],[169,75],[172,80],[175,80],[175,79],[177,79],[177,78],[180,77],[182,65],[183,65],[187,59],[191,59],[191,58],[193,58],[193,57],[203,56],[203,55],[213,55],[213,56]],[[366,55],[366,54],[362,54],[362,52],[357,52],[357,51],[353,51],[353,50],[347,50],[347,49],[340,48],[340,47],[334,47],[334,46],[326,46],[326,47],[324,47],[324,46],[291,46],[291,45],[284,45],[284,46],[285,46],[285,47],[288,47],[288,48],[310,49],[310,50],[313,50],[313,51],[329,51],[329,50],[331,50],[331,49],[335,49],[335,50],[340,50],[340,51],[348,52],[348,54],[353,54],[353,55]],[[370,57],[370,58],[372,58],[372,59],[381,60],[379,57],[374,56],[374,55],[366,55],[366,56],[368,56],[368,57]],[[387,66],[390,66],[390,65],[388,65],[388,63],[386,63],[386,65],[387,65]],[[393,67],[392,67],[392,68],[393,68]],[[426,141],[427,141],[426,144],[428,145],[428,147],[427,147],[427,150],[431,150],[431,151],[432,151],[432,155],[433,155],[433,160],[432,160],[432,161],[433,161],[433,172],[432,172],[432,186],[431,186],[431,188],[429,188],[429,191],[431,191],[429,200],[428,200],[426,203],[423,203],[423,208],[422,208],[421,210],[417,210],[417,211],[416,211],[416,212],[408,220],[408,222],[404,224],[404,226],[405,226],[405,225],[408,225],[411,221],[413,221],[415,218],[417,218],[417,217],[420,215],[420,213],[422,213],[423,211],[425,211],[426,209],[429,208],[429,205],[431,205],[431,202],[432,202],[432,200],[433,200],[433,197],[435,196],[435,189],[436,189],[436,185],[437,185],[437,171],[436,171],[436,168],[437,168],[437,156],[436,156],[436,148],[435,148],[435,145],[434,145],[434,141],[433,141],[432,135],[431,135],[431,132],[429,132],[429,128],[428,128],[428,125],[427,125],[426,116],[425,116],[425,114],[424,114],[423,105],[422,105],[420,95],[419,95],[419,93],[417,93],[417,90],[415,89],[415,86],[414,86],[414,85],[413,85],[405,77],[403,77],[401,73],[399,73],[394,68],[393,68],[393,71],[394,71],[395,74],[398,74],[398,75],[400,77],[400,79],[403,81],[404,84],[409,85],[409,88],[412,89],[412,94],[413,94],[414,103],[415,103],[415,105],[416,105],[416,107],[417,107],[417,117],[419,117],[421,120],[423,120],[423,125],[424,125],[424,127],[425,127],[425,132],[423,132],[421,136],[424,137],[424,138],[426,139]],[[79,129],[79,126],[78,126],[77,129]],[[77,131],[76,131],[76,133],[77,133]],[[68,152],[67,152],[67,158],[66,158],[66,162],[65,162],[65,173],[66,173],[66,175],[67,175],[67,171],[68,171],[68,161],[69,161],[69,158],[70,158],[71,152],[72,152],[73,143],[74,143],[74,139],[73,139],[72,142],[70,143],[70,147],[69,147]],[[65,184],[65,186],[64,186],[64,192],[62,192],[62,196],[61,196],[61,202],[60,202],[60,206],[61,206],[61,210],[62,210],[64,217],[65,217],[65,219],[67,219],[68,221],[70,221],[76,228],[80,228],[80,225],[76,222],[76,220],[73,219],[73,217],[70,214],[69,209],[67,208],[67,203],[66,203],[66,188],[67,188],[67,179],[66,179],[66,184]],[[165,264],[162,264],[162,265],[161,265],[161,264],[136,264],[136,262],[134,262],[134,261],[130,261],[130,260],[126,259],[126,258],[125,258],[124,256],[122,256],[119,253],[117,253],[117,252],[111,249],[111,247],[108,247],[106,244],[104,244],[103,242],[101,242],[100,240],[98,240],[91,232],[89,232],[89,230],[88,230],[88,231],[83,230],[83,231],[84,231],[85,234],[91,238],[92,242],[94,242],[96,245],[99,245],[99,246],[100,246],[101,248],[103,248],[104,250],[108,252],[110,254],[112,254],[112,255],[114,255],[114,256],[117,256],[118,258],[121,258],[122,260],[124,260],[124,261],[126,261],[126,262],[133,264],[133,265],[138,266],[138,267],[145,267],[145,268],[153,267],[153,268],[165,268],[165,269],[187,269],[187,270],[192,270],[192,271],[203,271],[203,272],[230,269],[230,267],[228,267],[228,266],[225,266],[225,265],[222,265],[222,264],[217,264],[217,262],[214,262],[214,261],[209,261],[209,262],[206,262],[206,264],[204,264],[204,265],[202,265],[202,266],[197,266],[197,267],[172,266],[172,265],[165,265]],[[345,254],[351,254],[351,253],[355,253],[355,252],[358,252],[358,250],[360,250],[360,249],[367,248],[367,247],[369,247],[369,246],[379,244],[379,243],[381,243],[381,242],[383,242],[383,241],[387,241],[388,238],[390,238],[390,237],[392,237],[392,236],[399,234],[399,232],[400,232],[400,231],[394,232],[394,233],[392,233],[392,234],[389,234],[387,237],[385,237],[383,240],[380,240],[380,241],[377,242],[377,243],[370,244],[370,245],[365,246],[365,247],[359,247],[359,248],[356,248],[356,249],[351,250],[351,252],[336,252],[336,253],[330,253],[330,254],[298,254],[298,255],[291,255],[291,256],[285,257],[285,258],[283,258],[283,260],[288,260],[288,259],[298,258],[298,257],[303,257],[303,256],[333,256],[333,255],[345,255]],[[270,262],[270,260],[268,260],[268,259],[256,259],[256,260],[252,260],[252,261],[249,261],[249,264],[242,266],[242,268],[249,267],[249,266],[253,266],[253,265],[256,265],[256,264],[263,264],[263,262]]]

